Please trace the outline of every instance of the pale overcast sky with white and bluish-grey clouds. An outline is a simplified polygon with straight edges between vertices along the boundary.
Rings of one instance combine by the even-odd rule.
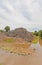
[[[0,29],[42,29],[42,0],[0,0]]]

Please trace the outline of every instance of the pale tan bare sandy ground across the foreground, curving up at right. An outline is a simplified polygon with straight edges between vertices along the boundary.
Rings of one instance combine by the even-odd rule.
[[[42,47],[39,44],[31,45],[36,51],[28,56],[21,56],[0,49],[0,63],[2,65],[42,65]]]

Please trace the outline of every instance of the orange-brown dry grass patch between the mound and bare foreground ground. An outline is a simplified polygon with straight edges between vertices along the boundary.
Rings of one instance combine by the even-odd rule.
[[[28,43],[20,38],[3,38],[0,41],[0,48],[7,50],[10,53],[17,53],[21,55],[27,55],[32,52],[32,50],[29,49],[30,45],[31,43]]]

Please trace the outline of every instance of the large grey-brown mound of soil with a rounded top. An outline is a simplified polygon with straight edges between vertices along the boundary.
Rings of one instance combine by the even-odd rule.
[[[31,32],[28,32],[25,28],[16,28],[15,30],[9,31],[7,36],[22,38],[28,42],[31,42],[34,38],[34,35]]]

